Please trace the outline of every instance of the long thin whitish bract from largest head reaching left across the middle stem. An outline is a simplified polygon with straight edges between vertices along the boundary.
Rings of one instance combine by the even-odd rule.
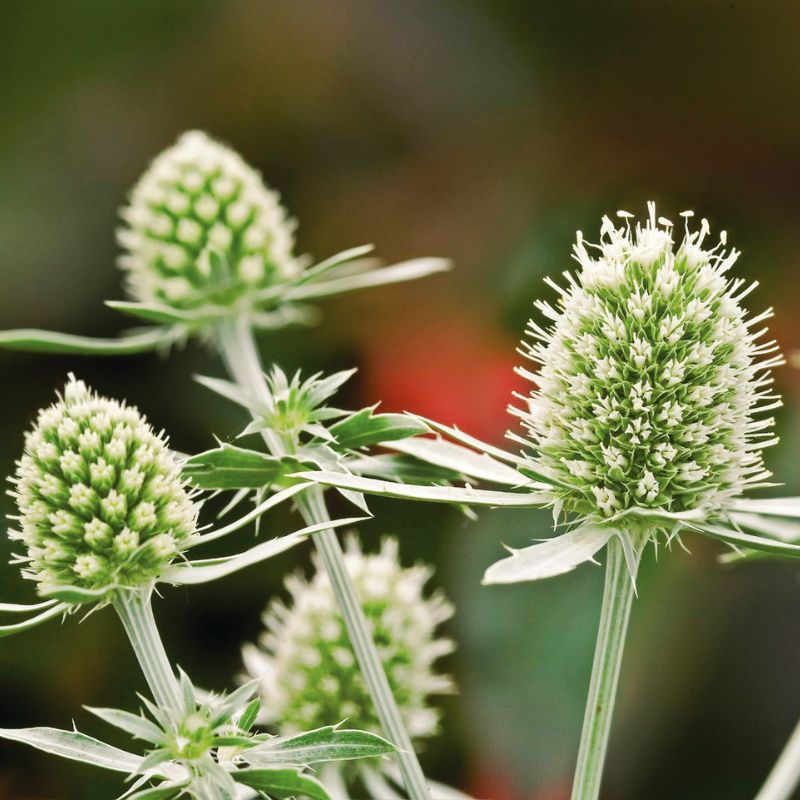
[[[547,505],[550,498],[535,492],[494,492],[473,489],[470,486],[456,488],[451,486],[412,486],[405,483],[379,481],[338,472],[300,472],[290,477],[321,483],[324,486],[337,486],[353,489],[365,494],[395,497],[401,500],[425,500],[431,503],[451,503],[454,505],[489,506],[492,508],[539,508]]]

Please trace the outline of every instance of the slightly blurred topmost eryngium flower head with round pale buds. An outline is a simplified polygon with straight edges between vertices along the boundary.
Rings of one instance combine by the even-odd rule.
[[[184,133],[150,165],[121,212],[118,239],[135,300],[228,305],[294,276],[295,223],[233,150]],[[221,259],[212,259],[212,251]]]

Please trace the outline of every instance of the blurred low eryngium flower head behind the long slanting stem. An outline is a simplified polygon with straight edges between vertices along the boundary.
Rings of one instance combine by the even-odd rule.
[[[403,568],[394,539],[366,555],[349,538],[345,562],[410,735],[433,735],[439,713],[428,706],[428,695],[452,691],[450,678],[436,674],[434,662],[453,642],[437,637],[436,627],[452,615],[452,606],[439,593],[424,597],[432,570]],[[344,719],[349,728],[380,732],[325,571],[317,563],[310,580],[291,576],[286,588],[289,604],[274,600],[264,612],[260,649],[244,649],[248,672],[262,679],[266,721],[282,734]]]

